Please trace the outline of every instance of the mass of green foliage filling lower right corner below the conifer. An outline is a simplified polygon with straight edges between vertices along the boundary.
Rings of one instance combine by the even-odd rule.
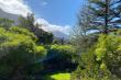
[[[97,45],[81,55],[74,72],[81,80],[121,79],[121,35],[100,35]]]

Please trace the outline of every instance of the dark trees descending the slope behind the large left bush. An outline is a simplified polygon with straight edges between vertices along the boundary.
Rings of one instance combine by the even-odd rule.
[[[42,30],[41,28],[42,25],[35,23],[35,19],[33,14],[28,14],[26,18],[20,16],[19,26],[28,28],[30,32],[33,32],[35,36],[38,38],[37,43],[52,44],[53,42],[53,34]]]

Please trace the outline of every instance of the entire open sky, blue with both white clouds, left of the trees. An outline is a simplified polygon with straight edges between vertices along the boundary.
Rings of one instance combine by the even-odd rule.
[[[36,22],[45,31],[68,34],[85,0],[0,0],[0,9],[12,14],[26,16],[34,13]]]

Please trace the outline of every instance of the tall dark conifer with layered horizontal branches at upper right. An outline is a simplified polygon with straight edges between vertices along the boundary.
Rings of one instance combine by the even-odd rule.
[[[108,34],[109,30],[118,28],[121,24],[121,0],[89,0],[90,15],[95,16],[91,25]]]

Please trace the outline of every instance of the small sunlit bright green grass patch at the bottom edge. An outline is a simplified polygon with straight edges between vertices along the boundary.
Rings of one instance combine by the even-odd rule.
[[[70,80],[70,73],[56,73],[51,76],[54,80]]]

